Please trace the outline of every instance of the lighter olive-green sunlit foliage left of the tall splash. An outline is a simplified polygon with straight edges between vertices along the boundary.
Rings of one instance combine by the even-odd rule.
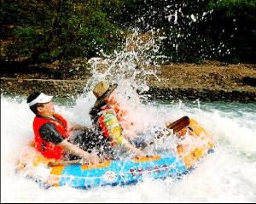
[[[40,62],[89,58],[100,49],[111,52],[119,43],[119,26],[109,13],[120,14],[119,1],[111,3],[109,6],[105,1],[3,1],[1,21],[5,35],[1,38],[7,43],[2,46],[2,59],[14,60],[22,55]]]

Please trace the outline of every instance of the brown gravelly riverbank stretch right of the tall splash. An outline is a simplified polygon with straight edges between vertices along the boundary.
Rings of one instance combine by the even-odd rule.
[[[154,98],[256,101],[256,65],[220,62],[163,65],[158,77],[160,82],[148,82]]]

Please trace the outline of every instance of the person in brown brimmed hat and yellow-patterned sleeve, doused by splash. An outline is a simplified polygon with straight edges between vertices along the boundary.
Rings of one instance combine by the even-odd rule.
[[[97,133],[102,133],[102,136],[99,137],[99,139],[102,139],[102,143],[111,144],[115,150],[131,150],[136,156],[145,156],[142,150],[131,144],[128,139],[125,139],[120,124],[121,112],[117,103],[110,100],[115,88],[117,88],[116,84],[110,86],[108,82],[96,84],[93,89],[96,103],[90,110],[92,124]]]

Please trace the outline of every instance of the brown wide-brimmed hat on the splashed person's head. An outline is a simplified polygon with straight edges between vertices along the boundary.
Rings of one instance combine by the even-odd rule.
[[[112,94],[113,90],[117,88],[117,84],[109,85],[108,82],[99,82],[93,88],[92,93],[96,96],[95,106],[101,105],[103,100]]]

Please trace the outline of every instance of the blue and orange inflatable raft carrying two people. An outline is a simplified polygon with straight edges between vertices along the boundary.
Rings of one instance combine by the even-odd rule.
[[[69,185],[79,189],[136,184],[146,177],[177,178],[188,173],[195,163],[214,147],[212,137],[193,119],[190,119],[189,126],[184,127],[177,135],[184,138],[181,139],[183,142],[177,145],[177,150],[170,150],[164,155],[104,161],[90,166],[87,164],[49,166],[52,161],[29,147],[20,156],[17,171],[44,184],[44,187]]]

